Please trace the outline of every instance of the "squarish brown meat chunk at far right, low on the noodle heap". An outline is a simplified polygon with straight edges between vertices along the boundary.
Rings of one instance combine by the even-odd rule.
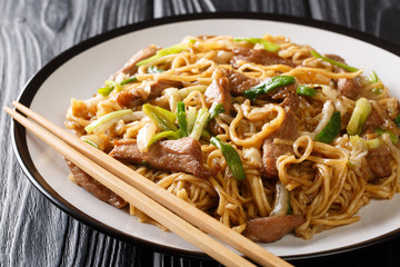
[[[391,175],[391,160],[390,149],[384,145],[368,151],[367,155],[368,166],[376,178]]]

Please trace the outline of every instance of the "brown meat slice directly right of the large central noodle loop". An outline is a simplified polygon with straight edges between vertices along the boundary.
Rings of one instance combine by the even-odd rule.
[[[278,177],[277,159],[282,155],[292,152],[291,146],[273,144],[273,139],[296,140],[297,131],[298,126],[294,112],[287,108],[281,126],[262,145],[262,170],[266,178]]]

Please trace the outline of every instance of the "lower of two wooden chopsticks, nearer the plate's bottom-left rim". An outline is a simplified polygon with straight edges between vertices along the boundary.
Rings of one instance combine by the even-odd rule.
[[[99,182],[120,195],[128,202],[134,204],[136,207],[143,210],[148,216],[164,225],[183,239],[192,243],[214,259],[227,266],[254,266],[247,259],[230,250],[228,247],[218,243],[216,239],[211,238],[151,198],[147,197],[132,186],[120,180],[118,177],[91,161],[62,140],[34,125],[32,121],[26,119],[23,116],[10,108],[4,108],[4,110],[27,129],[31,130],[40,139],[50,145],[56,151],[60,152],[83,171],[94,177]]]

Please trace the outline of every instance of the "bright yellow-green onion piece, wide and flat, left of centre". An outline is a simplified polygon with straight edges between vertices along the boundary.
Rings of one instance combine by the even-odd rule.
[[[150,103],[144,103],[142,107],[143,112],[157,125],[162,131],[177,131],[178,128],[174,125],[177,115]]]

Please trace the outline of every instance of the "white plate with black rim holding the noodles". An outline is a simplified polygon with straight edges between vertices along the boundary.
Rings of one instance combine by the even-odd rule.
[[[20,101],[63,126],[71,98],[91,97],[132,53],[150,43],[168,47],[188,34],[261,37],[264,33],[289,37],[293,42],[310,44],[322,53],[340,55],[351,66],[364,68],[366,73],[374,70],[392,95],[400,98],[400,57],[397,56],[400,50],[397,47],[319,21],[261,14],[208,14],[207,18],[188,16],[133,24],[92,38],[61,53],[39,71],[27,85]],[[57,152],[32,135],[26,135],[21,127],[13,129],[13,145],[22,168],[58,207],[126,241],[144,241],[164,251],[202,256],[198,248],[174,234],[140,224],[69,181],[68,168]],[[317,234],[311,240],[287,235],[262,246],[278,256],[301,258],[372,244],[399,233],[399,195],[390,201],[372,201],[359,212],[361,221]]]

